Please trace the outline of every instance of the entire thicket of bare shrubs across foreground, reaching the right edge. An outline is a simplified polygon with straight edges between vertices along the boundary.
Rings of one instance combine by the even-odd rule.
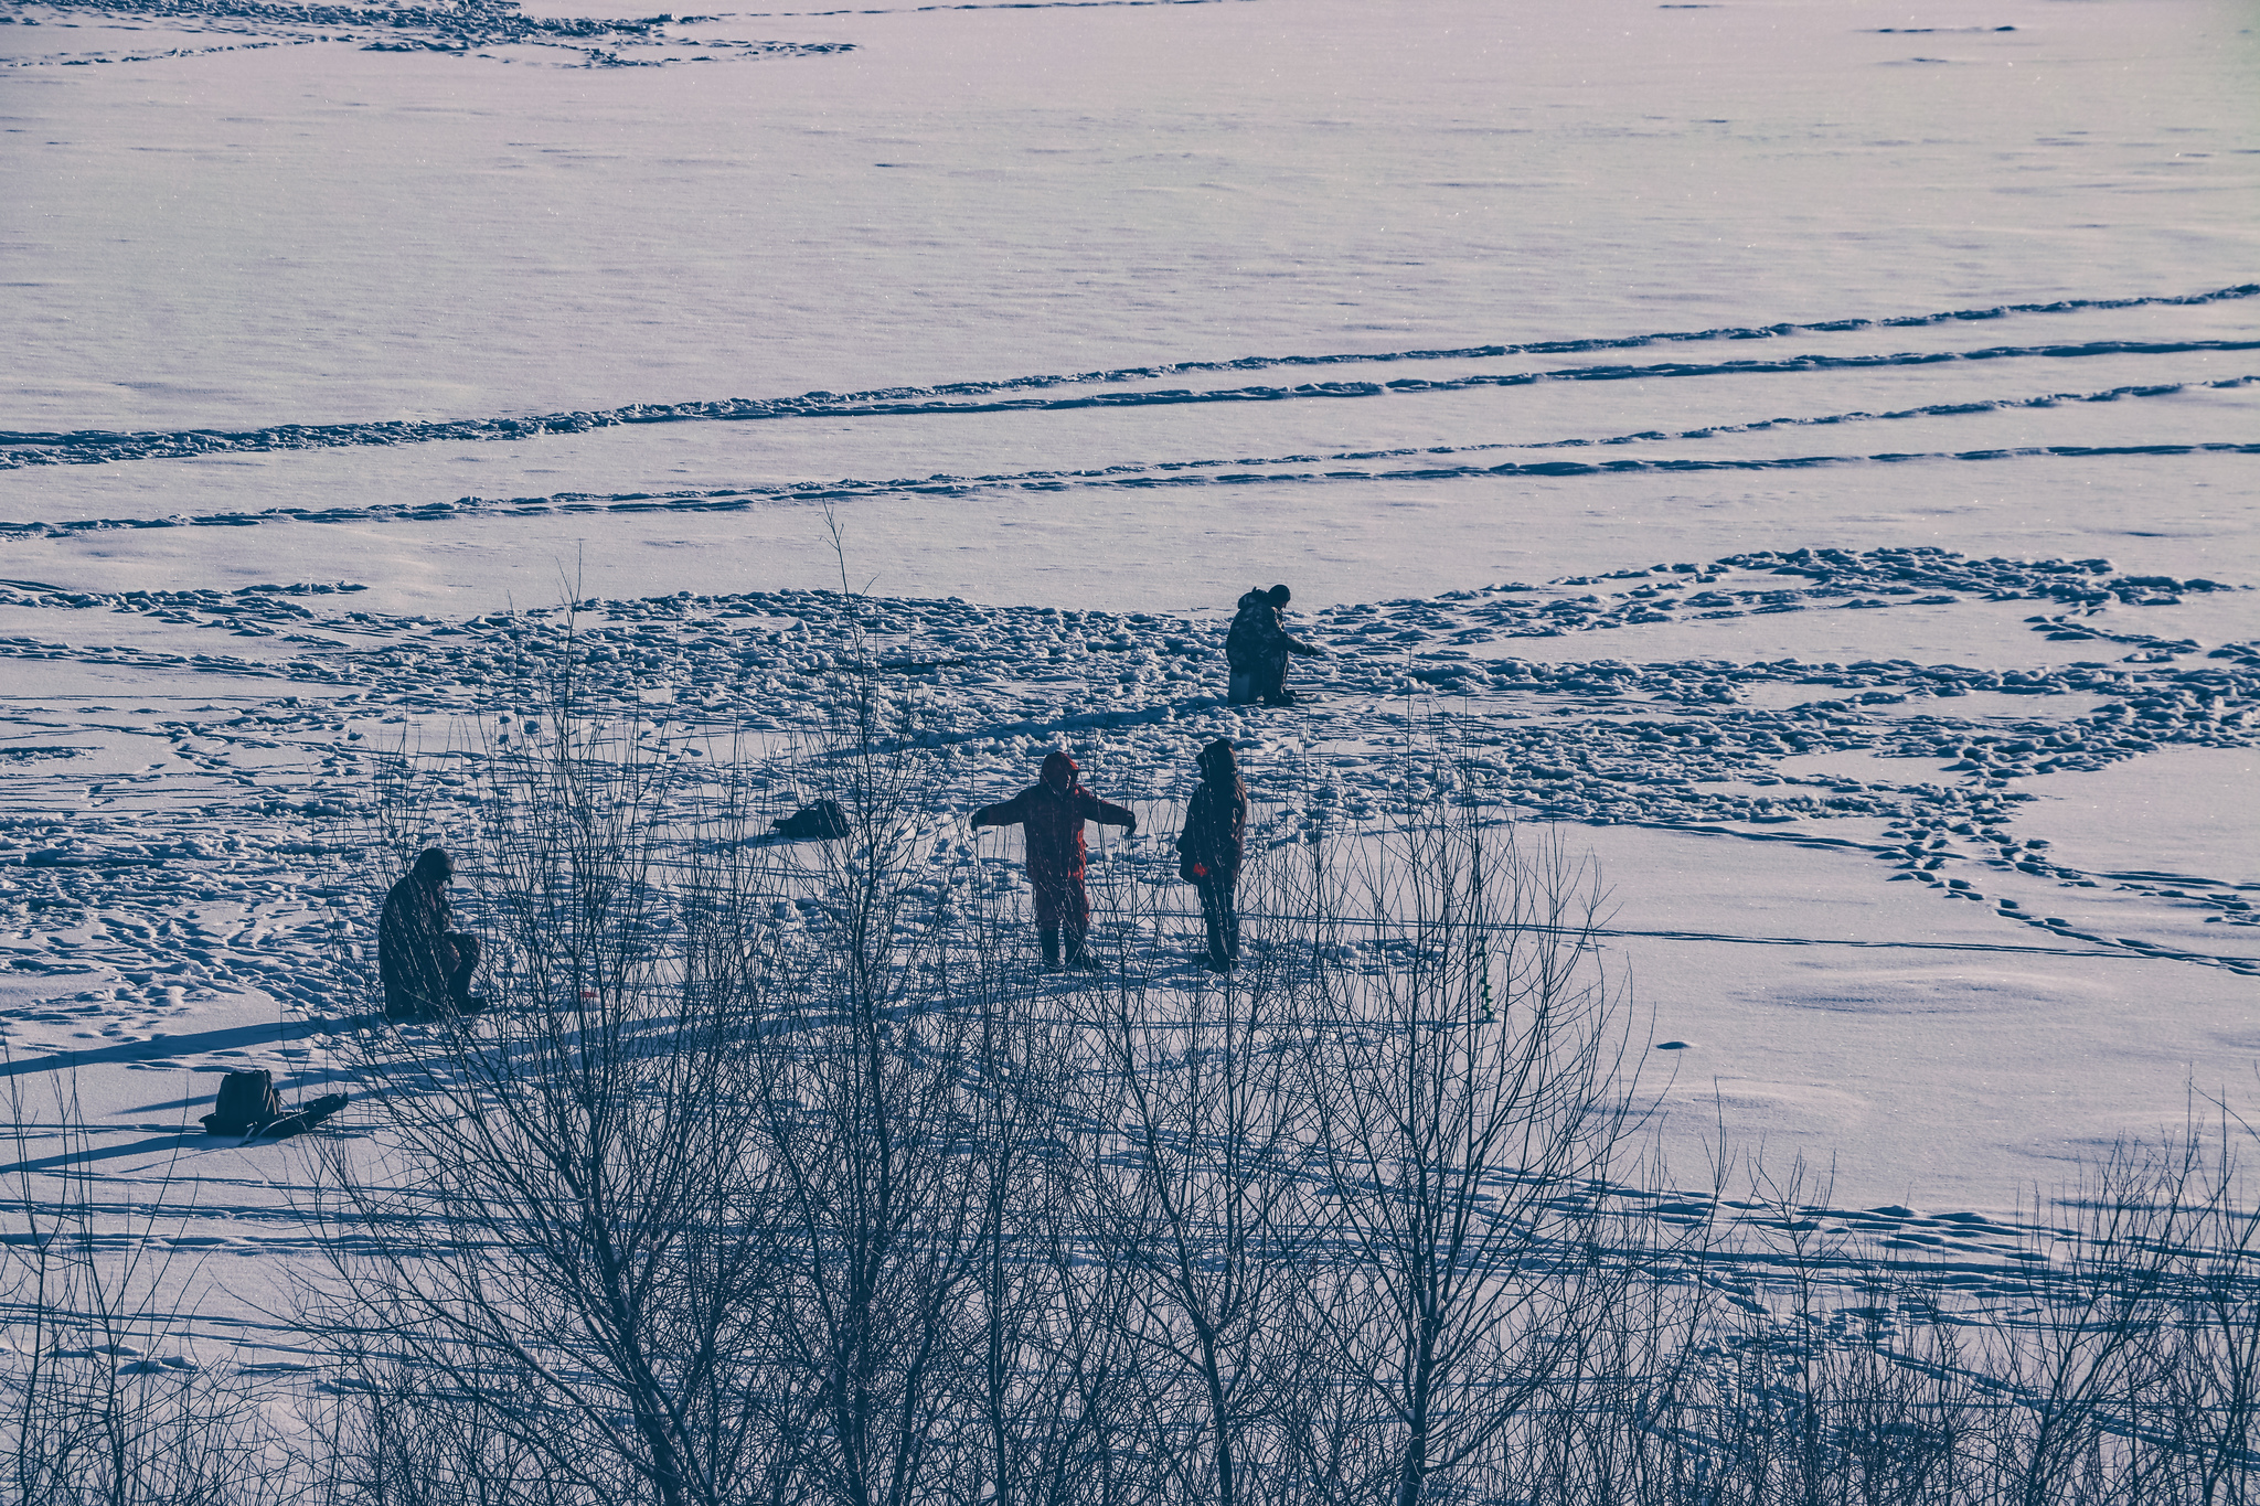
[[[1596,876],[1449,752],[1250,858],[1238,971],[1130,853],[1049,978],[868,675],[759,781],[540,720],[454,817],[493,1009],[373,1032],[325,1140],[328,1499],[2251,1499],[2242,1129],[1987,1294],[1822,1240],[1801,1165],[1672,1192]]]

